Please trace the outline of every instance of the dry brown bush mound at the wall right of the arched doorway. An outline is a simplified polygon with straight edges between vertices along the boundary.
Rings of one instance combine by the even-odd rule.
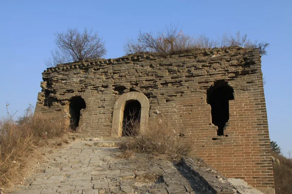
[[[120,146],[122,150],[133,150],[147,154],[165,154],[173,160],[180,160],[183,155],[188,155],[191,142],[186,141],[180,131],[176,131],[169,122],[160,118],[149,123],[145,131],[139,131],[139,125],[132,125],[133,136],[129,135]],[[124,130],[124,128],[123,128]],[[138,132],[137,132],[138,131]]]

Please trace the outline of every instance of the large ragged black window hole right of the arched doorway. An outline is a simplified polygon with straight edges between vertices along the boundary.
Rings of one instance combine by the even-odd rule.
[[[217,135],[224,135],[225,124],[229,120],[229,100],[233,100],[234,90],[227,81],[216,81],[207,90],[207,103],[211,105],[212,123],[218,127]]]

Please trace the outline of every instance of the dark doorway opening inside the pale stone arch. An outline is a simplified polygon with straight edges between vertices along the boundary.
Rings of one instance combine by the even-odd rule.
[[[122,136],[138,135],[140,130],[141,104],[137,100],[126,102],[123,117]]]

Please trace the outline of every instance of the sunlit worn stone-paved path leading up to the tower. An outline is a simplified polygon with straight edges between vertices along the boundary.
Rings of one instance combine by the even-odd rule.
[[[117,157],[116,147],[79,140],[51,155],[43,173],[11,194],[198,194],[194,178],[160,158]],[[89,146],[92,145],[92,146]],[[96,145],[96,143],[95,143]]]

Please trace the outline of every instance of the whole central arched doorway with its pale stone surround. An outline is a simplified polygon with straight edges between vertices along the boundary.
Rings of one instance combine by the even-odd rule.
[[[148,126],[149,101],[141,92],[121,95],[113,106],[111,136],[133,136]]]

